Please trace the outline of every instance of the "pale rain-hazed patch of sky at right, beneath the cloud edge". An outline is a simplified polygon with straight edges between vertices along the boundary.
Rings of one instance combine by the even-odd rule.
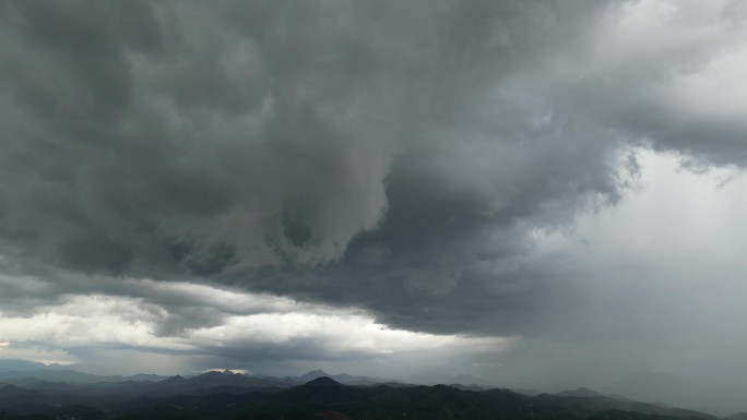
[[[636,154],[639,187],[617,206],[534,236],[541,256],[573,267],[583,293],[583,305],[549,327],[552,351],[570,346],[580,360],[567,370],[589,372],[593,352],[584,351],[608,349],[598,351],[606,373],[593,379],[601,383],[629,374],[630,365],[736,383],[747,373],[734,363],[747,351],[747,178],[733,168],[691,171],[675,154]]]

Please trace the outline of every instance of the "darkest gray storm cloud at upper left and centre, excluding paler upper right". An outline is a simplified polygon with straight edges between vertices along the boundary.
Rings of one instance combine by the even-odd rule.
[[[607,5],[4,2],[4,249],[384,317],[489,288],[618,194],[615,142],[515,82]]]

